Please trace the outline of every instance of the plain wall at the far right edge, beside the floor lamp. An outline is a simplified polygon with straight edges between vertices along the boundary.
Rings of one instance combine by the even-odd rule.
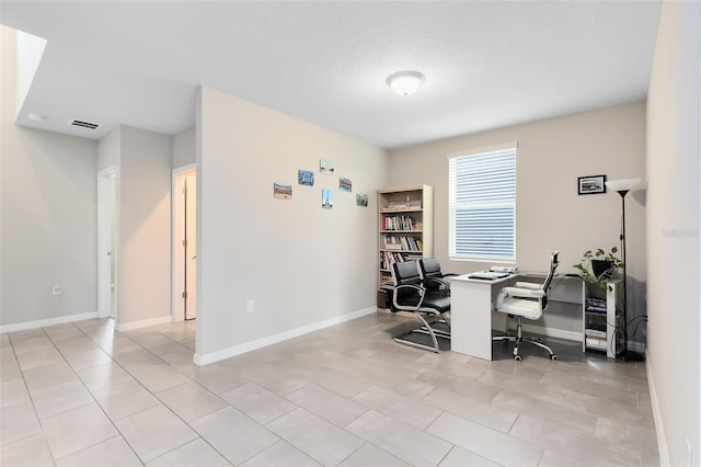
[[[700,44],[701,3],[664,2],[648,94],[647,356],[665,466],[701,465]]]

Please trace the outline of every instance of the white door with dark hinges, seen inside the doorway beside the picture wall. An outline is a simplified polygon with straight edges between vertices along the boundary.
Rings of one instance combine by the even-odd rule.
[[[196,294],[197,294],[197,221],[196,221],[196,200],[197,180],[195,172],[185,174],[185,241],[184,241],[184,264],[185,264],[185,319],[197,317]]]

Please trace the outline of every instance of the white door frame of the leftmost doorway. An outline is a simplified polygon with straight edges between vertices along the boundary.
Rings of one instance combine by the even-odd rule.
[[[114,176],[114,209],[115,226],[111,231],[111,196],[110,196],[110,178]],[[117,310],[117,291],[118,287],[118,267],[119,267],[119,183],[117,175],[117,166],[110,166],[97,172],[97,317],[110,318],[112,315],[112,272],[111,262],[114,262],[114,314],[115,320]],[[115,238],[112,238],[112,237]],[[112,250],[114,246],[114,250]],[[106,252],[111,251],[112,258],[106,260]]]

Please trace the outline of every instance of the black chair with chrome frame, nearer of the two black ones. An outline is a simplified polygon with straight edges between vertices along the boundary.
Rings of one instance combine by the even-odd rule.
[[[415,346],[439,353],[438,339],[450,339],[450,297],[444,294],[429,294],[423,285],[416,261],[405,261],[392,265],[394,276],[394,308],[399,311],[411,311],[422,322],[418,329],[412,329],[394,337],[401,344]],[[440,329],[436,324],[446,329]],[[407,339],[412,334],[430,337],[433,345]]]

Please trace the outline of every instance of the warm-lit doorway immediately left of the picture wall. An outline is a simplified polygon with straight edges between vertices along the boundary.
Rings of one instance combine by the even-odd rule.
[[[197,172],[173,170],[173,320],[197,317]]]

